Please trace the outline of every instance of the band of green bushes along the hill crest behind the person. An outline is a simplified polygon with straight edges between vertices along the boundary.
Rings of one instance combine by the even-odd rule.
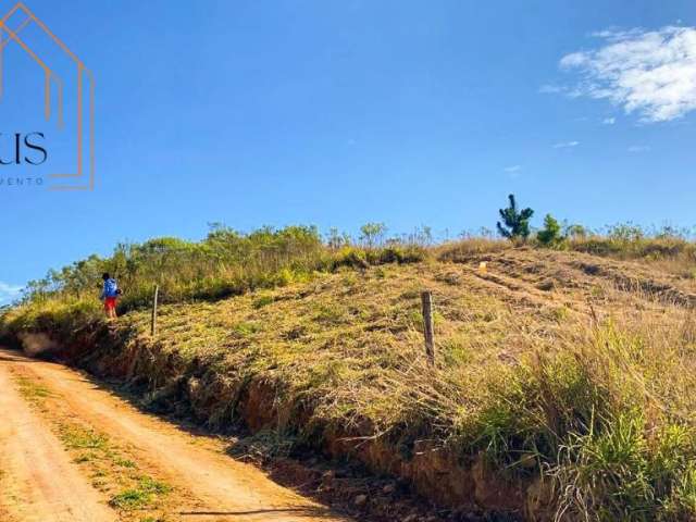
[[[378,226],[377,226],[378,225]],[[386,227],[363,227],[365,243],[382,240]],[[351,246],[347,236],[330,236],[324,245],[313,226],[263,227],[249,234],[214,224],[201,241],[160,237],[142,244],[119,244],[112,256],[90,256],[27,285],[23,304],[92,302],[101,293],[101,274],[119,279],[123,291],[119,313],[151,306],[154,286],[159,301],[176,303],[217,300],[259,288],[286,286],[316,272],[340,266],[365,269],[372,264],[410,263],[425,258],[424,247],[389,243],[387,247]],[[338,245],[343,247],[336,249]],[[28,316],[28,315],[27,315]]]

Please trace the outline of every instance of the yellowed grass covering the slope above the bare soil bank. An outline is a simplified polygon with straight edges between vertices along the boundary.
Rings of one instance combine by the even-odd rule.
[[[542,477],[536,514],[557,520],[696,517],[691,281],[659,261],[500,241],[437,254],[446,261],[167,304],[157,343],[145,311],[117,328],[232,386],[273,383],[276,425],[300,442],[338,426],[406,451],[428,440],[462,459],[483,453],[508,476]],[[423,355],[423,288],[434,294],[435,368]],[[177,377],[157,371],[152,389]],[[310,415],[298,426],[300,407]]]

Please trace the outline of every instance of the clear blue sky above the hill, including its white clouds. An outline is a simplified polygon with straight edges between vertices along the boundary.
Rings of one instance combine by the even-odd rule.
[[[209,222],[457,235],[493,228],[514,192],[535,224],[696,224],[691,0],[28,7],[96,77],[97,187],[0,185],[0,301],[116,241]],[[27,87],[0,102],[3,135],[48,125],[15,60]]]

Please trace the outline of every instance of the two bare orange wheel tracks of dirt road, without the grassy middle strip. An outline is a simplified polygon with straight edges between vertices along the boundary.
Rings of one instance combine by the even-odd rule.
[[[166,520],[343,521],[327,508],[235,461],[214,439],[147,415],[59,364],[0,349],[0,519],[13,522],[134,520],[112,510],[51,432],[51,408],[37,412],[16,376],[55,393],[61,408],[128,447],[139,465],[181,493]],[[178,497],[177,497],[178,498]],[[137,520],[137,519],[136,519]]]

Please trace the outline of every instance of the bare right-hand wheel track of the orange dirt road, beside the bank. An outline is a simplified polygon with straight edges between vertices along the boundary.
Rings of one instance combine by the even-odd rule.
[[[182,506],[173,513],[176,520],[348,522],[327,508],[273,483],[253,465],[223,455],[212,437],[195,436],[147,415],[73,370],[2,349],[0,373],[7,373],[9,365],[17,374],[60,394],[76,418],[128,446],[146,470],[164,476],[177,490],[190,492],[197,500],[196,507]],[[2,388],[5,386],[3,383]],[[102,519],[94,520],[101,522]]]

